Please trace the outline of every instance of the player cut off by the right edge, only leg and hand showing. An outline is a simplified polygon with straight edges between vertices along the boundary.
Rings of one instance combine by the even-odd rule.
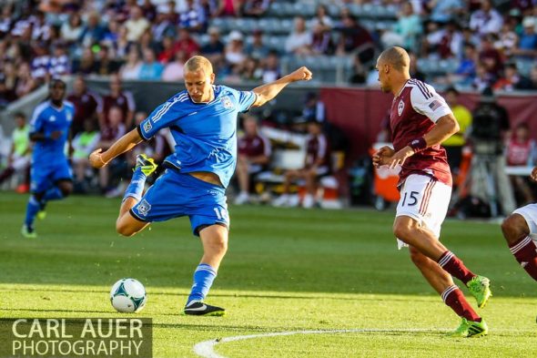
[[[531,178],[537,181],[537,167],[533,168]],[[502,231],[516,261],[537,281],[537,204],[514,210],[503,221]]]

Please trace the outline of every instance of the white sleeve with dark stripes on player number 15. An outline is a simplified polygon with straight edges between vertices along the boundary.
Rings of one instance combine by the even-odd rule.
[[[453,113],[444,98],[436,93],[433,87],[423,82],[412,88],[410,101],[416,112],[427,116],[434,123],[440,118]]]

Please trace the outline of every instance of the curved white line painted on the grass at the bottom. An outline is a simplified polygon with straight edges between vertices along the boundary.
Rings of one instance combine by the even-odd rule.
[[[294,334],[334,334],[334,333],[367,333],[367,332],[376,332],[376,333],[389,333],[389,332],[400,332],[400,333],[410,333],[410,332],[447,332],[448,329],[378,329],[378,328],[363,328],[363,329],[353,329],[353,330],[319,330],[319,331],[290,331],[290,332],[271,332],[271,333],[261,333],[261,334],[248,334],[248,335],[236,335],[234,337],[224,337],[220,340],[210,340],[194,345],[194,352],[200,357],[204,358],[226,358],[223,355],[220,355],[215,352],[215,345],[218,343],[228,343],[235,341],[251,340],[255,338],[264,338],[264,337],[278,337],[283,335],[294,335]]]

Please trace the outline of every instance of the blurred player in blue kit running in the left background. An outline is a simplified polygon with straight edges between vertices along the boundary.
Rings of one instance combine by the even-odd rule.
[[[72,171],[65,149],[75,115],[75,107],[64,100],[66,83],[52,79],[49,98],[35,107],[30,121],[30,139],[35,142],[30,171],[30,191],[26,218],[21,233],[36,238],[34,220],[38,212],[43,215],[49,200],[64,199],[73,191]]]

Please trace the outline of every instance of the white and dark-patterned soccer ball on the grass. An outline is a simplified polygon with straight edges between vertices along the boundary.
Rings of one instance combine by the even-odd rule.
[[[110,302],[117,312],[140,312],[147,302],[144,285],[135,279],[121,279],[110,290]]]

